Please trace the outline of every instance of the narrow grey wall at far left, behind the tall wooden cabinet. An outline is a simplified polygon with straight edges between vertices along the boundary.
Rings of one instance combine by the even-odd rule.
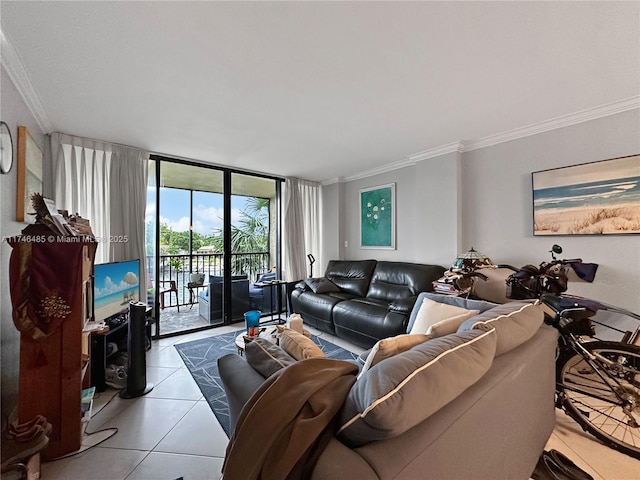
[[[25,227],[16,219],[16,175],[18,125],[29,129],[35,142],[45,151],[45,136],[27,108],[18,90],[4,68],[0,67],[0,112],[2,121],[9,125],[13,138],[14,164],[7,175],[0,175],[0,390],[2,391],[2,416],[9,415],[18,403],[18,374],[20,366],[20,336],[11,318],[9,296],[9,258],[11,247],[4,240],[19,234]],[[46,172],[46,170],[45,170]],[[45,173],[46,174],[46,173]]]

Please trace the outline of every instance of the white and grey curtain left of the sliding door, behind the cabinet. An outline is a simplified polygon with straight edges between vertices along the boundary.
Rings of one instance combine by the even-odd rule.
[[[91,222],[96,263],[139,258],[140,285],[146,285],[148,152],[53,133],[51,157],[56,206]]]

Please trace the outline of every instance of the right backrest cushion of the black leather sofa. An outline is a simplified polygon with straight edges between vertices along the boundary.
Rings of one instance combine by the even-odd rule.
[[[393,301],[433,290],[431,282],[445,269],[439,265],[407,262],[378,262],[371,278],[367,297]]]

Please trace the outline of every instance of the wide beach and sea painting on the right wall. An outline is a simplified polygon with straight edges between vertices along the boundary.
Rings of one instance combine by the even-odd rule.
[[[640,154],[532,172],[533,234],[640,233]]]

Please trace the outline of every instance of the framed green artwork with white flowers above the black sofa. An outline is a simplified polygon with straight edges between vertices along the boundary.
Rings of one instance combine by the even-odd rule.
[[[396,249],[396,184],[360,190],[360,248]]]

